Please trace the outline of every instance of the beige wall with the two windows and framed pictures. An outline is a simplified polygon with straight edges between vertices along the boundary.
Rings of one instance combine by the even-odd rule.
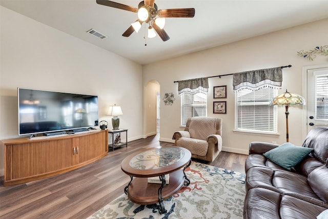
[[[282,89],[303,94],[302,67],[328,63],[328,57],[318,55],[314,61],[297,55],[297,51],[310,50],[315,46],[328,45],[328,19],[310,23],[270,34],[265,34],[236,43],[223,45],[176,58],[168,59],[143,68],[144,84],[155,79],[160,84],[161,98],[167,92],[173,92],[176,101],[173,106],[160,102],[160,140],[172,142],[175,130],[180,125],[180,97],[177,83],[183,79],[236,73],[248,70],[292,65],[283,69]],[[227,114],[213,114],[213,87],[227,85]],[[223,118],[223,150],[248,154],[248,145],[252,141],[285,142],[284,108],[278,107],[278,133],[280,135],[261,135],[234,132],[234,93],[232,76],[209,78],[208,116]],[[220,99],[221,100],[221,99]],[[290,108],[290,142],[300,145],[303,142],[302,128],[304,117],[302,107]]]

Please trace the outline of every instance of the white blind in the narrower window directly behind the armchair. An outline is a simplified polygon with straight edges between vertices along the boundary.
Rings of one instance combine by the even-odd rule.
[[[186,126],[190,117],[207,116],[207,94],[181,94],[181,126]]]

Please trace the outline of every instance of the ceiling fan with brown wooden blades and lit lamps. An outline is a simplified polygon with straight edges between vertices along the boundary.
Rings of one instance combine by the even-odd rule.
[[[156,33],[162,41],[168,41],[170,36],[163,29],[165,25],[165,17],[194,17],[194,8],[178,8],[178,9],[160,9],[158,10],[155,0],[141,1],[138,8],[112,2],[109,0],[96,0],[97,4],[105,5],[112,8],[118,8],[131,11],[138,14],[138,19],[122,34],[122,36],[130,36],[134,31],[138,32],[142,23],[149,24],[148,37],[156,36]],[[155,31],[156,33],[155,33]]]

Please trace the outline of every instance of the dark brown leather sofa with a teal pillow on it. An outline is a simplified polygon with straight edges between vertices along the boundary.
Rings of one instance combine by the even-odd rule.
[[[245,163],[243,217],[309,219],[325,214],[328,209],[328,127],[309,132],[302,147],[314,150],[292,170],[282,168],[263,155],[276,147],[278,145],[263,142],[250,144]]]

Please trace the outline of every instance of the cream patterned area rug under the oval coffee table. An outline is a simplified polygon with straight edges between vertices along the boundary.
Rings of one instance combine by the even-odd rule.
[[[192,162],[186,175],[190,185],[163,202],[163,214],[156,204],[134,204],[122,194],[88,218],[243,218],[245,174]]]

